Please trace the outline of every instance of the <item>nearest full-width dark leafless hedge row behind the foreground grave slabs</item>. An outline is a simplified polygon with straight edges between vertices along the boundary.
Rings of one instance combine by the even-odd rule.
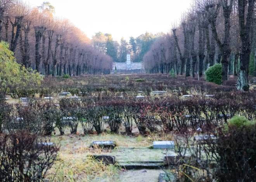
[[[227,119],[242,115],[256,119],[256,102],[231,99],[193,98],[188,100],[166,99],[139,101],[116,100],[98,102],[77,102],[62,99],[59,105],[53,103],[28,103],[27,105],[0,105],[1,131],[26,129],[31,133],[50,135],[55,127],[64,134],[66,127],[76,133],[78,124],[85,134],[102,133],[104,120],[113,133],[118,133],[121,124],[131,134],[135,123],[140,134],[147,131],[169,133],[189,128],[211,128]]]

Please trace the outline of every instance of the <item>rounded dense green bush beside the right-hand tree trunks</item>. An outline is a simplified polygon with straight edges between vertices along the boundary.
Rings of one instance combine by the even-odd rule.
[[[221,85],[221,72],[222,72],[222,66],[220,63],[209,67],[205,71],[206,81]]]

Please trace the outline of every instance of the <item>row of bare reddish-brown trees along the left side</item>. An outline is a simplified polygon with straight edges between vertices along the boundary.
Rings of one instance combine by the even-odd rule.
[[[110,73],[111,57],[54,13],[49,2],[31,8],[21,0],[0,1],[0,40],[9,42],[17,62],[44,75]]]

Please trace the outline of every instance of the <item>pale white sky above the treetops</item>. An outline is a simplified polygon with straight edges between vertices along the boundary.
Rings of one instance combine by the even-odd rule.
[[[91,39],[110,33],[116,41],[152,32],[167,33],[192,0],[23,0],[32,7],[49,1],[55,16],[69,19]]]

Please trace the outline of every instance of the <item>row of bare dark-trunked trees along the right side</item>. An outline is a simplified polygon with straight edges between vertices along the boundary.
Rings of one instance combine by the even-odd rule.
[[[238,75],[237,89],[248,90],[250,60],[254,71],[256,0],[193,0],[170,33],[159,37],[144,56],[149,73],[185,73],[202,77],[214,63],[222,65],[222,82]],[[250,59],[251,56],[251,59]]]

